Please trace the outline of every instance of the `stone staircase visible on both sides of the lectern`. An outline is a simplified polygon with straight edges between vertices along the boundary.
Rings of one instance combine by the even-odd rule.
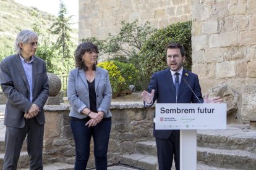
[[[138,142],[135,152],[122,155],[120,160],[141,169],[158,169],[155,140]],[[256,169],[256,130],[244,125],[230,125],[226,130],[198,130],[197,169]]]

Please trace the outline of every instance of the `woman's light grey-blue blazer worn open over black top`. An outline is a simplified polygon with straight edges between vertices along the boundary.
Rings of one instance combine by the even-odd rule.
[[[104,117],[109,118],[112,116],[109,110],[112,89],[108,71],[100,67],[96,67],[95,71],[95,92],[97,111],[103,111],[105,113]],[[71,105],[69,116],[79,119],[86,118],[87,115],[84,115],[81,111],[85,107],[90,109],[90,99],[88,83],[83,69],[75,68],[70,71],[67,83],[67,98]]]

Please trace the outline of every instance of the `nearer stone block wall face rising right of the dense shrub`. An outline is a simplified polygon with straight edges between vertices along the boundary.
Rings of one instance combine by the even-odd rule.
[[[202,91],[225,82],[239,94],[233,118],[256,121],[256,1],[192,0],[191,12],[192,71]]]

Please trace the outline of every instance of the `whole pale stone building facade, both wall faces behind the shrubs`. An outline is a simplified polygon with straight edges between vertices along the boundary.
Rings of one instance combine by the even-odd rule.
[[[79,0],[79,39],[106,38],[135,19],[154,28],[192,20],[192,71],[202,92],[214,87],[229,121],[256,126],[255,0]]]

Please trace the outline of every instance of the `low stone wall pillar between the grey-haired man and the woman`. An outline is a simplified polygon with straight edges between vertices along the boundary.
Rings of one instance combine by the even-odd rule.
[[[69,105],[46,105],[44,148],[47,163],[74,164],[75,146],[69,126]]]

